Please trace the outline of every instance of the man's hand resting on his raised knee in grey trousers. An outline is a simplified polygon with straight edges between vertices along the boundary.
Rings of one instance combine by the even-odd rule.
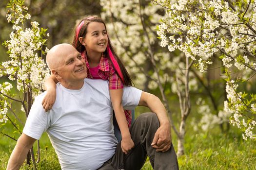
[[[158,128],[151,146],[157,152],[166,152],[171,148],[172,137],[170,131],[170,124],[160,125]]]

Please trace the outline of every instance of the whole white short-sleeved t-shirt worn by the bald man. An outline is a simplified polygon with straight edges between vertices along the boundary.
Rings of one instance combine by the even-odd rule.
[[[47,132],[59,158],[62,170],[96,170],[110,159],[116,150],[113,131],[113,108],[108,81],[84,79],[79,90],[57,84],[56,102],[45,112],[39,95],[32,105],[23,133],[39,139]],[[141,90],[125,87],[122,104],[134,109]]]

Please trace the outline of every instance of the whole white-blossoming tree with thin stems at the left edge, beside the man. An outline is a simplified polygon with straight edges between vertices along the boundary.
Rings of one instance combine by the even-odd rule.
[[[20,125],[24,123],[19,114],[23,112],[28,116],[34,98],[41,93],[44,79],[50,73],[42,59],[45,54],[44,37],[49,35],[46,34],[46,29],[39,28],[36,21],[31,22],[31,28],[26,27],[26,20],[31,16],[27,13],[28,8],[24,5],[24,0],[10,0],[7,8],[9,10],[6,17],[13,25],[13,31],[10,40],[3,43],[8,49],[9,60],[0,64],[0,77],[9,79],[0,84],[0,123],[10,121],[21,134]],[[13,89],[14,84],[18,92]],[[21,109],[15,111],[17,103],[21,104]],[[17,121],[19,123],[16,123]],[[12,135],[3,132],[2,134],[16,140]],[[35,167],[33,148],[30,151],[27,163],[30,163],[31,154]]]

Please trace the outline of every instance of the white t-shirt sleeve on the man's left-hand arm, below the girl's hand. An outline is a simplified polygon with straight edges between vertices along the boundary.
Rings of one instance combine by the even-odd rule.
[[[39,140],[50,125],[49,112],[44,111],[41,100],[37,97],[30,109],[23,133]]]

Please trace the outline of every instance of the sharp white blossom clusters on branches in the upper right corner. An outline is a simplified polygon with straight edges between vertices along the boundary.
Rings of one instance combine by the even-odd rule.
[[[163,23],[158,26],[157,32],[161,38],[162,47],[168,46],[170,51],[175,49],[183,51],[187,57],[197,61],[198,64],[195,66],[201,72],[212,64],[209,62],[210,57],[219,52],[225,54],[223,58],[226,60],[223,61],[223,65],[228,62],[227,67],[232,66],[231,61],[234,61],[235,67],[240,70],[244,69],[242,65],[249,65],[243,60],[236,60],[236,57],[239,55],[239,49],[243,49],[245,54],[247,51],[252,52],[254,49],[252,47],[256,45],[254,36],[256,20],[253,6],[249,8],[252,15],[248,18],[247,15],[241,18],[237,12],[239,9],[232,10],[230,5],[223,0],[177,0],[177,2],[165,4],[168,8],[166,12],[168,17],[162,18]],[[185,7],[180,8],[180,4]],[[244,3],[241,2],[241,4]],[[246,19],[250,21],[251,27],[245,23]],[[169,38],[169,34],[175,36]],[[183,41],[178,41],[178,39]],[[245,44],[250,46],[245,46]]]

